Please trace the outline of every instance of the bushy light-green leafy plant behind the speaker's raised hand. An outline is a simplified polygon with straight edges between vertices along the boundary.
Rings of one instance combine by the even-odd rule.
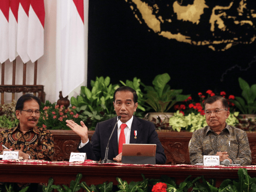
[[[96,77],[91,80],[92,90],[81,86],[80,95],[72,97],[70,102],[76,106],[79,118],[84,121],[89,130],[94,130],[96,124],[116,116],[113,106],[113,94],[119,87],[118,84],[110,84],[109,77]]]

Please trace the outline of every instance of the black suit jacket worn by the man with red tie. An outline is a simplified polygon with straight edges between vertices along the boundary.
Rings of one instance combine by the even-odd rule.
[[[79,148],[80,145],[78,145],[78,151],[86,153],[87,159],[96,161],[99,161],[100,159],[103,160],[105,157],[108,139],[110,138],[116,121],[117,117],[99,122],[96,125],[91,142],[88,142],[88,144],[82,148]],[[134,138],[134,130],[137,131],[136,139]],[[130,144],[156,144],[156,164],[164,164],[166,162],[164,149],[162,148],[156,128],[152,122],[133,116]],[[113,158],[118,155],[117,127],[110,139],[108,148],[108,159],[113,160]]]

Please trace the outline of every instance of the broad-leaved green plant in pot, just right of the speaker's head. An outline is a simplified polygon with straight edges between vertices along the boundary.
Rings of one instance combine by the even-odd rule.
[[[148,113],[145,116],[146,120],[161,123],[168,123],[172,114],[167,113],[168,110],[176,103],[186,100],[190,95],[182,95],[182,89],[171,89],[167,83],[170,81],[170,76],[167,73],[157,75],[152,81],[153,86],[144,86],[146,94],[144,94],[144,102],[150,106],[155,112]]]

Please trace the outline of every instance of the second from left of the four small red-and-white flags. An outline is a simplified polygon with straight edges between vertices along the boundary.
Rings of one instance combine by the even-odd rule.
[[[9,60],[12,62],[17,56],[17,30],[19,0],[10,1],[9,11]]]

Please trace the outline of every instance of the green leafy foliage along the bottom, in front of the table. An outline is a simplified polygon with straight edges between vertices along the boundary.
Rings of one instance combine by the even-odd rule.
[[[142,181],[130,182],[129,184],[121,178],[116,178],[116,180],[118,181],[118,192],[147,192],[159,182],[167,184],[166,192],[188,192],[191,190],[193,192],[256,192],[256,178],[250,178],[245,168],[238,170],[238,181],[226,179],[219,188],[215,187],[214,179],[206,181],[204,176],[200,176],[192,180],[190,177],[188,176],[179,185],[176,184],[174,178],[165,175],[162,175],[160,179],[149,180],[142,174]],[[76,192],[81,188],[86,192],[112,192],[113,182],[88,186],[84,181],[80,183],[81,178],[82,174],[77,174],[76,180],[71,181],[70,187],[53,185],[53,178],[50,178],[47,187],[43,186],[43,192],[52,192],[53,189],[57,189],[58,192]]]

